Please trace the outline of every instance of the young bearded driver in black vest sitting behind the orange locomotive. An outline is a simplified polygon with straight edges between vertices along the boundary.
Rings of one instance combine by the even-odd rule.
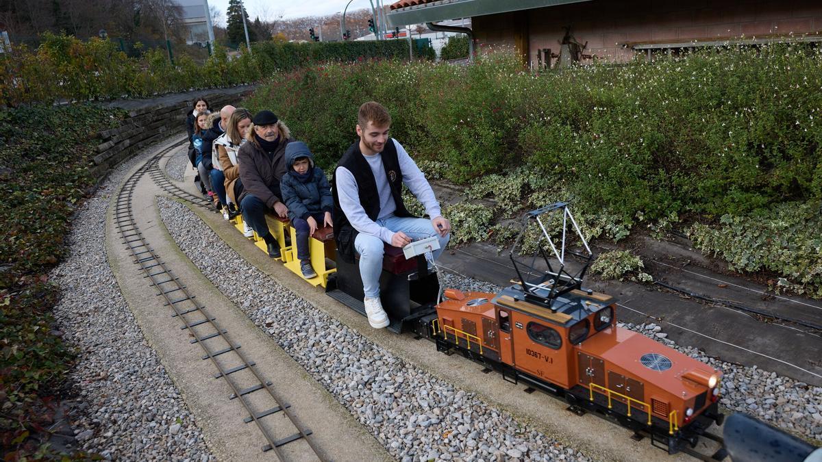
[[[450,238],[450,222],[441,215],[431,185],[398,141],[388,135],[391,116],[374,101],[360,106],[357,135],[345,152],[333,179],[334,229],[337,252],[353,263],[359,255],[365,311],[375,329],[390,321],[380,302],[380,273],[384,244],[404,247],[414,240],[437,236],[440,249]],[[405,209],[403,184],[425,206],[431,219],[417,218]]]

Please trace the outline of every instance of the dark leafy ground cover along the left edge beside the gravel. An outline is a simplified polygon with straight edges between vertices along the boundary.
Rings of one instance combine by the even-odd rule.
[[[70,217],[90,193],[97,132],[125,113],[90,104],[0,110],[0,441],[7,460],[37,455],[72,351],[53,327],[48,271],[67,252]],[[43,455],[42,453],[40,455]]]

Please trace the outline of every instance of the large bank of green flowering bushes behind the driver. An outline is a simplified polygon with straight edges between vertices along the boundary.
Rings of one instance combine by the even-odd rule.
[[[468,202],[446,209],[463,228],[455,226],[455,244],[510,242],[510,220],[523,210],[572,201],[592,238],[619,241],[636,229],[660,238],[710,224],[692,233],[706,252],[820,296],[822,256],[805,244],[819,229],[812,220],[760,229],[782,232],[782,241],[732,238],[754,233],[757,217],[778,221],[783,204],[822,200],[820,63],[820,49],[776,44],[534,73],[513,53],[492,51],[468,66],[281,72],[245,104],[278,113],[327,168],[355,138],[358,105],[380,101],[427,173],[464,190]],[[490,217],[479,201],[492,201]],[[753,264],[746,252],[767,256]]]

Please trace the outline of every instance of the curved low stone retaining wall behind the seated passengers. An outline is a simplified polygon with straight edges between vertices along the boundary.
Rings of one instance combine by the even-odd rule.
[[[219,110],[226,104],[238,105],[240,99],[253,90],[243,86],[223,90],[207,90],[197,93],[166,95],[145,101],[122,100],[110,103],[110,107],[128,110],[122,125],[99,133],[99,145],[91,174],[100,182],[109,169],[128,159],[138,150],[174,133],[185,136],[186,117],[192,109],[192,99],[205,98],[211,110]]]

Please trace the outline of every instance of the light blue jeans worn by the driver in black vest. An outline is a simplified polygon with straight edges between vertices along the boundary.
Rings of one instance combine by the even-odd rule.
[[[400,218],[390,215],[383,219],[377,219],[376,224],[397,232],[402,231],[406,236],[417,241],[419,239],[436,236],[440,240],[439,250],[432,252],[434,260],[440,256],[448,245],[450,234],[445,238],[441,237],[431,224],[430,219],[424,218]],[[354,248],[360,256],[359,268],[360,277],[363,278],[363,292],[368,298],[380,296],[380,273],[382,272],[382,256],[385,253],[385,243],[381,238],[359,233],[354,239]]]

